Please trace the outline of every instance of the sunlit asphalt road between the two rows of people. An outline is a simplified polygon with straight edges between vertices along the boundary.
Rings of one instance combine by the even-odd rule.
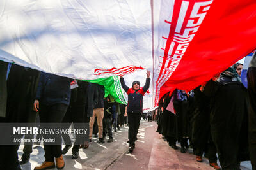
[[[79,159],[71,159],[71,149],[66,155],[65,169],[213,169],[209,162],[199,163],[195,161],[192,149],[187,153],[180,153],[180,150],[173,150],[168,146],[160,134],[156,132],[156,122],[141,120],[138,132],[138,141],[134,152],[129,153],[127,143],[128,127],[124,126],[120,131],[113,132],[113,143],[98,143],[97,138],[93,138],[92,143],[86,150],[80,149]],[[107,141],[107,139],[106,139]],[[177,143],[179,147],[179,143]],[[19,158],[22,156],[21,145],[19,148]],[[64,147],[64,146],[63,146]],[[44,148],[42,145],[33,145],[30,162],[22,165],[22,169],[30,170],[38,164],[44,162]],[[250,162],[241,162],[241,169],[252,169]]]

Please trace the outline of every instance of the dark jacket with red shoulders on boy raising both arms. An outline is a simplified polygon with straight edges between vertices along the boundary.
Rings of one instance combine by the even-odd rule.
[[[133,90],[127,87],[124,78],[120,78],[122,88],[128,94],[127,113],[142,113],[143,110],[143,96],[147,92],[150,85],[150,78],[146,79],[144,87],[139,90]]]

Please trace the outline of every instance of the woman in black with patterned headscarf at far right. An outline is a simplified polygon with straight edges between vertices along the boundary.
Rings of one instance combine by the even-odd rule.
[[[222,169],[240,169],[248,159],[248,92],[236,71],[228,68],[210,80],[204,93],[211,97],[210,124]]]

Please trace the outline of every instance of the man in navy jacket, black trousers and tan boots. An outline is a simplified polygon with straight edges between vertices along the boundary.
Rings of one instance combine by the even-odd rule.
[[[60,123],[62,122],[70,103],[70,83],[72,81],[71,78],[54,74],[44,72],[40,74],[33,107],[33,110],[36,112],[40,109],[40,123],[59,123],[56,124],[56,128],[61,128]],[[44,126],[42,125],[42,129],[47,128]],[[45,135],[44,137],[46,139],[49,138],[48,135]],[[52,137],[54,137],[56,141],[61,140],[61,134],[54,134]],[[60,144],[53,143],[52,145],[51,143],[44,142],[44,150],[45,162],[40,166],[35,167],[35,169],[54,168],[54,158],[56,159],[57,169],[62,169],[65,166]]]

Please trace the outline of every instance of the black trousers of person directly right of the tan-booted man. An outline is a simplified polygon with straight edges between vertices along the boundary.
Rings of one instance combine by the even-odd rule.
[[[72,106],[70,105],[68,107],[67,113],[65,114],[63,120],[62,120],[62,128],[68,129],[73,122],[75,129],[83,129],[81,125],[84,122],[84,113],[85,113],[85,106]],[[78,123],[78,124],[76,124]],[[65,145],[72,145],[70,136],[68,134],[61,134]],[[83,142],[83,136],[82,135],[76,135],[76,141],[74,142],[74,146],[72,148],[72,153],[78,152],[80,144]]]

